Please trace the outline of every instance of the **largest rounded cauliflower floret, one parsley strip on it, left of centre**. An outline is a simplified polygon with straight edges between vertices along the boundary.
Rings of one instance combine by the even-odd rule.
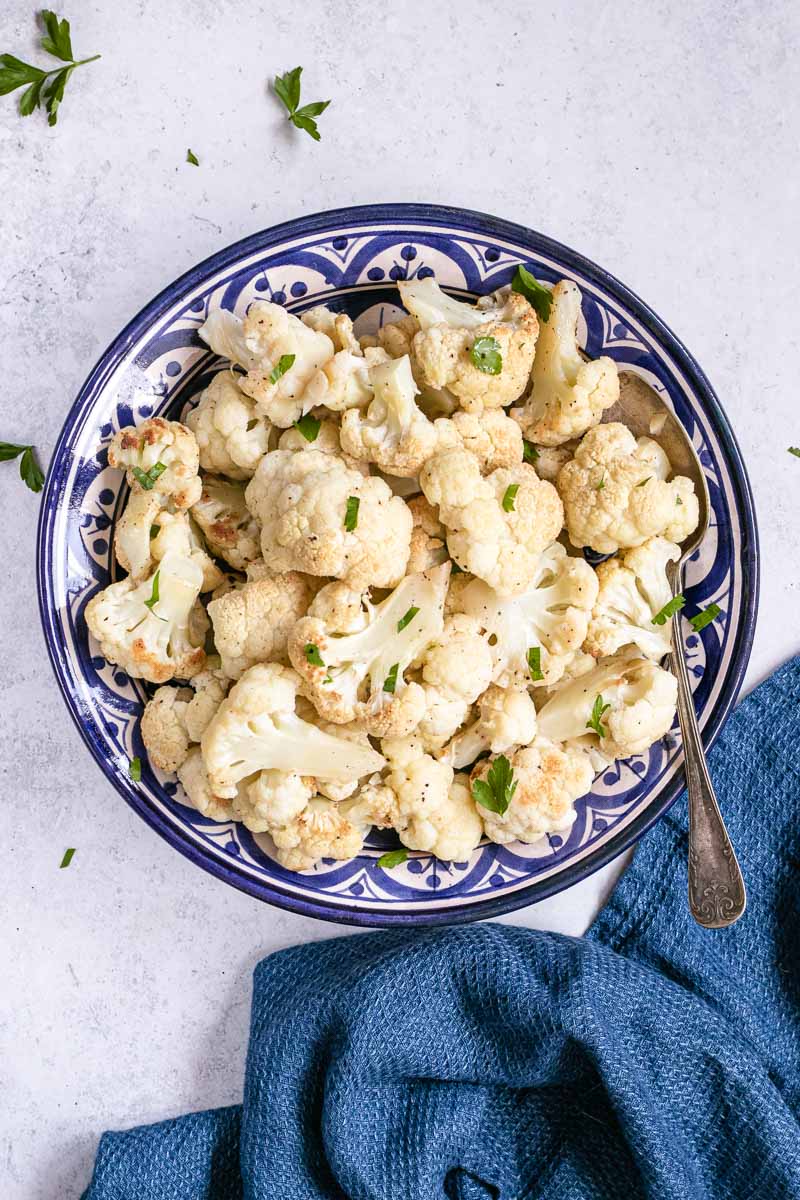
[[[405,503],[383,479],[365,479],[333,455],[273,450],[246,499],[275,572],[336,576],[354,589],[393,587],[404,575],[411,541]]]

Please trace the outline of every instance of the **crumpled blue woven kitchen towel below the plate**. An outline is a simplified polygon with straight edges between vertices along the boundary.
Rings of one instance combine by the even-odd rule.
[[[800,660],[712,774],[748,907],[686,908],[686,812],[585,938],[504,925],[255,970],[245,1102],[107,1133],[85,1200],[800,1198]]]

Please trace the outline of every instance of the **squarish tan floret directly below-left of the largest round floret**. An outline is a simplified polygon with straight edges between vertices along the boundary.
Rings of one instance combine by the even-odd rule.
[[[255,662],[285,662],[287,638],[308,608],[308,586],[297,571],[245,583],[212,600],[209,617],[222,670],[239,679]]]

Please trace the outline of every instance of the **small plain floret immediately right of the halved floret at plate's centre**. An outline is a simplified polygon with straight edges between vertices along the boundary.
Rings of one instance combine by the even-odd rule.
[[[492,649],[473,617],[449,617],[421,655],[426,712],[419,732],[426,750],[438,750],[464,724],[494,670]]]

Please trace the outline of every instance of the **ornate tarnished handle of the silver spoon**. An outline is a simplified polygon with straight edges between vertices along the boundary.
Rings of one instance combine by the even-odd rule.
[[[681,590],[681,576],[676,592]],[[739,920],[747,896],[705,761],[678,617],[672,624],[672,662],[688,793],[688,907],[698,925],[726,929]]]

